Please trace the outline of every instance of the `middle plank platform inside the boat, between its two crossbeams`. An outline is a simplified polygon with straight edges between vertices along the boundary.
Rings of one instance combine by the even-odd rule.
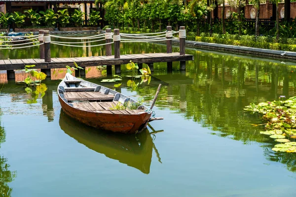
[[[100,92],[64,92],[64,97],[68,101],[83,100],[113,100],[114,95],[104,95]]]

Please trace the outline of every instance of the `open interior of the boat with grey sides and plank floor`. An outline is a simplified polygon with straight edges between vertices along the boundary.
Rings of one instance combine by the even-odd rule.
[[[66,75],[58,88],[60,97],[70,106],[97,113],[109,114],[139,114],[146,113],[148,108],[144,105],[137,109],[123,109],[120,106],[136,104],[137,101],[131,99],[114,90],[74,78]],[[150,113],[150,112],[149,112]]]

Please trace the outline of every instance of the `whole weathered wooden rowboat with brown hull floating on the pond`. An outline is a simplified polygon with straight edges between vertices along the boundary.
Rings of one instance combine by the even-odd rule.
[[[124,105],[127,102],[135,104],[137,101],[104,86],[76,78],[69,73],[66,73],[59,84],[58,95],[62,109],[67,115],[100,130],[138,133],[146,128],[149,121],[162,119],[150,119],[152,110],[144,105],[136,110],[111,110],[116,105]]]

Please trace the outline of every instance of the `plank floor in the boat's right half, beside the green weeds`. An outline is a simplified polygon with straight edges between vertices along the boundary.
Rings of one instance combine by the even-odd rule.
[[[111,102],[74,102],[72,104],[77,109],[86,110],[86,111],[93,111],[93,112],[97,112],[97,113],[137,114],[137,113],[144,112],[143,109],[137,109],[137,110],[129,110],[129,109],[111,110],[111,108],[116,106],[117,103],[118,103],[118,101],[111,101]]]

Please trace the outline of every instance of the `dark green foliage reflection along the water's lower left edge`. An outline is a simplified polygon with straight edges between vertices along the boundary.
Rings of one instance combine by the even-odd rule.
[[[1,115],[1,108],[0,108]],[[0,120],[0,145],[5,141],[4,127],[1,126]],[[1,147],[0,147],[1,148]],[[9,164],[6,163],[7,159],[0,155],[0,196],[10,197],[12,189],[8,187],[7,183],[13,181],[16,176],[15,172],[8,170]]]

